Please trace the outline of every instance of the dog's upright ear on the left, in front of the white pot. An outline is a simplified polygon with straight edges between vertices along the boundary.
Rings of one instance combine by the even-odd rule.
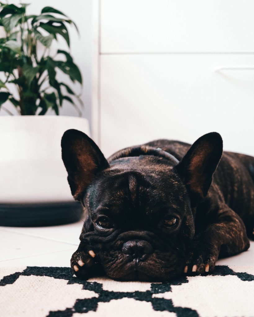
[[[61,146],[71,194],[75,200],[81,201],[97,172],[109,166],[108,161],[94,141],[78,130],[65,131]]]

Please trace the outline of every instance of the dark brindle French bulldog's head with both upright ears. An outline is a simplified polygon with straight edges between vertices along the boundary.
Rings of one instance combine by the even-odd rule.
[[[206,196],[221,155],[220,135],[208,133],[178,164],[150,146],[107,161],[86,134],[64,133],[71,193],[87,210],[80,239],[108,276],[159,281],[183,272],[195,232],[193,208]]]

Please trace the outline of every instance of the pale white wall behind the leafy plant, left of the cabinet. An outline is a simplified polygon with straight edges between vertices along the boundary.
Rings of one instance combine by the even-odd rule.
[[[39,14],[41,9],[45,6],[54,7],[67,16],[69,16],[76,24],[80,32],[80,37],[77,35],[75,28],[70,27],[70,48],[71,54],[74,57],[74,62],[78,65],[83,76],[83,92],[81,99],[84,102],[84,108],[82,109],[82,116],[91,120],[91,19],[92,19],[92,0],[30,0],[27,1],[30,5],[27,7],[28,14]],[[10,1],[9,3],[19,3],[19,1]],[[2,36],[2,34],[1,34]],[[67,50],[68,47],[64,43],[64,40],[59,37],[59,42],[55,46],[55,49],[62,48]],[[65,75],[59,73],[58,76],[62,76],[65,80]],[[71,82],[68,82],[72,86]],[[75,91],[80,91],[80,85],[74,86]],[[9,109],[13,111],[11,106]],[[13,111],[15,113],[15,110]],[[52,114],[52,113],[49,113]],[[61,115],[77,116],[77,111],[66,100],[63,102],[63,108],[60,109]],[[4,110],[0,110],[0,115],[8,115]]]

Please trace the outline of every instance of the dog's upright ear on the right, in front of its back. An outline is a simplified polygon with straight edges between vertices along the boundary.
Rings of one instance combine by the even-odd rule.
[[[197,139],[176,166],[190,194],[192,206],[197,205],[206,196],[222,151],[223,143],[219,133],[207,133]]]

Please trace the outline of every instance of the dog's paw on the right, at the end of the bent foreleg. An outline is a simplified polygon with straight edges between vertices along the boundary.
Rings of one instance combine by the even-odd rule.
[[[215,247],[196,245],[189,251],[184,273],[192,275],[209,274],[214,270],[218,256],[219,251]]]

